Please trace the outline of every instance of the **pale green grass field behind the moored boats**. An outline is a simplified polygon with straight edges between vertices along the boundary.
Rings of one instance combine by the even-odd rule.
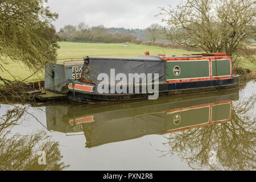
[[[150,55],[182,55],[196,52],[184,51],[181,49],[163,49],[160,47],[143,46],[137,44],[129,44],[124,47],[124,44],[103,44],[103,43],[73,43],[73,42],[60,42],[58,49],[58,59],[64,58],[79,58],[84,56],[95,57],[126,57],[126,56],[138,56],[144,55],[145,51],[150,51]],[[20,79],[27,78],[32,72],[21,63],[14,63],[12,60],[6,60],[5,68],[11,73],[11,75]],[[251,68],[251,64],[243,63],[244,67]],[[0,76],[9,80],[13,80],[7,71],[2,72],[0,70]],[[44,80],[44,72],[40,72],[30,77],[26,82]]]

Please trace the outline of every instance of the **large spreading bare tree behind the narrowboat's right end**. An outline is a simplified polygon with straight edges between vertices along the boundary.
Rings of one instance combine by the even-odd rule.
[[[255,42],[254,0],[186,0],[160,8],[172,43],[206,52],[236,52]]]

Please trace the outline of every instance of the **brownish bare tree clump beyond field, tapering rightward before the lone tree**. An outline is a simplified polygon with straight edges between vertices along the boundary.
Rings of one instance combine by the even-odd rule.
[[[89,27],[85,23],[64,26],[58,35],[63,41],[89,43],[126,43],[137,38],[131,34],[110,33],[104,26]]]

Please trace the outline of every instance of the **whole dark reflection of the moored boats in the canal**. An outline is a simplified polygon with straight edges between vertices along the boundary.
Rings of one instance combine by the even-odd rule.
[[[76,135],[86,147],[167,134],[231,121],[238,90],[159,98],[119,104],[46,106],[47,129]]]

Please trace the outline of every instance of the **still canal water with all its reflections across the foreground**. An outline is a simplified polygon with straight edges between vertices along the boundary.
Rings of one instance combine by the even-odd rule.
[[[256,82],[119,103],[1,104],[0,170],[255,170]]]

